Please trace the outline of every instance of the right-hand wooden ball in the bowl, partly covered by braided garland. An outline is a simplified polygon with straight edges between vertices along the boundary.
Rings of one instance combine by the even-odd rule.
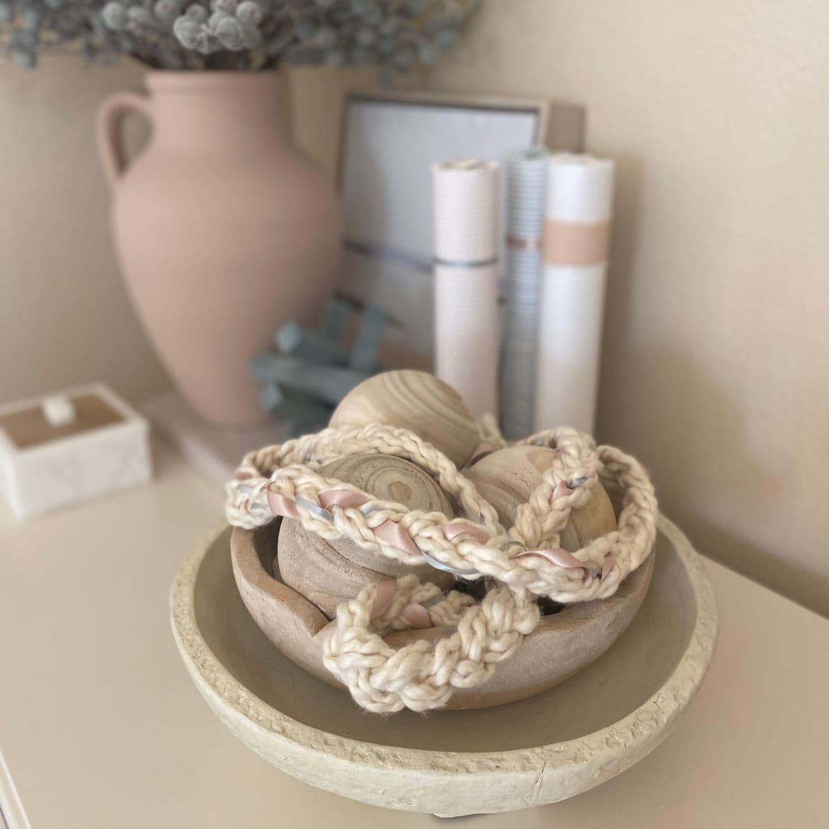
[[[555,449],[545,446],[510,446],[486,455],[467,470],[466,477],[495,507],[498,518],[506,527],[515,523],[518,507],[526,503],[541,483],[545,471],[555,461]],[[570,521],[560,533],[565,550],[580,550],[588,541],[616,529],[616,515],[608,493],[601,484],[584,507],[570,512]]]

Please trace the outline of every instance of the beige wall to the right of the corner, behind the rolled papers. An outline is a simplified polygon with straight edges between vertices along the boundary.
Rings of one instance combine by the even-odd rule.
[[[814,0],[488,0],[431,80],[587,105],[618,161],[599,437],[701,550],[822,613],[827,41]]]

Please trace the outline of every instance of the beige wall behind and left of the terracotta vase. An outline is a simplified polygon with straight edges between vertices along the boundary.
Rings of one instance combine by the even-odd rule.
[[[93,141],[99,103],[138,89],[143,72],[70,57],[35,71],[0,63],[0,402],[95,380],[138,401],[169,382],[118,273]],[[375,74],[292,80],[298,138],[332,172],[341,90]],[[128,124],[133,149],[146,132]]]

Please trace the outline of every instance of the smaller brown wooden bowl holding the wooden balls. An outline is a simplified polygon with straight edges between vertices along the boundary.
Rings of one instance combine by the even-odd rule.
[[[322,637],[332,622],[282,581],[278,534],[278,521],[258,530],[236,527],[232,531],[233,573],[242,601],[262,633],[288,659],[342,689],[322,664]],[[609,599],[572,604],[559,613],[542,617],[518,652],[508,662],[502,662],[490,680],[474,688],[458,689],[446,707],[486,708],[523,700],[581,671],[600,657],[633,621],[651,583],[652,570],[653,557],[648,556]],[[400,647],[417,639],[437,638],[441,632],[442,628],[398,631],[385,641]]]

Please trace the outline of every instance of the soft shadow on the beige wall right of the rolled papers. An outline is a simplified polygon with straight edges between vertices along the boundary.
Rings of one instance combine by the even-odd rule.
[[[664,274],[639,266],[642,162],[614,158],[617,190],[597,434],[642,458],[663,511],[698,549],[772,589],[787,585],[791,598],[829,615],[829,577],[793,564],[787,551],[778,549],[780,539],[798,535],[785,526],[797,510],[791,494],[781,497],[770,453],[747,443],[739,397],[718,385],[693,354],[660,342],[666,332],[671,337],[664,321],[648,325],[642,318],[643,308],[652,308],[646,292]],[[662,333],[652,337],[652,347],[642,345],[642,332],[647,337],[657,328]]]

